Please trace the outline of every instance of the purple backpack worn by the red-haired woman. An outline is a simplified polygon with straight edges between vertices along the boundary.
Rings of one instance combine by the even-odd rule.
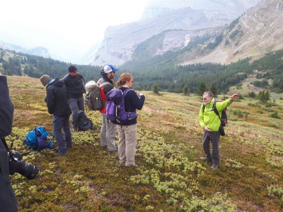
[[[122,125],[127,120],[137,118],[137,112],[126,112],[125,111],[125,97],[130,88],[123,91],[117,88],[113,88],[107,94],[106,104],[106,116],[107,118],[116,125]]]

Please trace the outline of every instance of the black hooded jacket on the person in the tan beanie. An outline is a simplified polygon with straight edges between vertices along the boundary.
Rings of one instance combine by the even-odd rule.
[[[68,102],[67,89],[63,80],[55,79],[46,87],[46,93],[46,103],[50,114],[59,117],[66,117],[72,114]]]

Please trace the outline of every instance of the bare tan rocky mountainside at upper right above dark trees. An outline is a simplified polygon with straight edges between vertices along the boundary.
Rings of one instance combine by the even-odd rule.
[[[249,56],[258,57],[268,52],[283,49],[282,0],[261,1],[256,7],[243,14],[233,28],[226,29],[222,43],[206,55],[198,55],[195,59],[180,64],[196,62],[220,62],[227,64]]]

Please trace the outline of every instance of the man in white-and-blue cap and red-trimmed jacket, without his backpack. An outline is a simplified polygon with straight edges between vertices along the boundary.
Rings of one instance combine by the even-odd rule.
[[[114,68],[112,65],[106,65],[104,68],[101,68],[100,73],[102,78],[97,81],[97,84],[101,86],[100,94],[101,99],[105,103],[107,102],[106,95],[109,91],[113,89],[114,82],[112,79],[115,77],[115,72],[118,71],[118,68]],[[105,106],[99,110],[102,116],[102,127],[101,127],[101,138],[100,145],[102,147],[107,146],[109,152],[116,152],[117,148],[115,145],[115,135],[116,135],[116,125],[108,121],[106,117],[106,108]]]

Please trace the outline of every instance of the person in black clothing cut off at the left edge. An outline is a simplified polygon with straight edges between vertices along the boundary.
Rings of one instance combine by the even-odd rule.
[[[18,202],[9,180],[8,152],[2,140],[12,132],[14,106],[9,97],[7,78],[0,76],[0,211],[18,211]]]

